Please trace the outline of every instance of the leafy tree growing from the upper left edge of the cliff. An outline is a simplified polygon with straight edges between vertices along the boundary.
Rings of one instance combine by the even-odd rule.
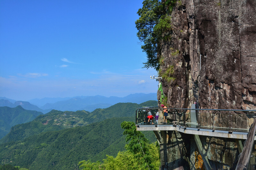
[[[171,19],[167,13],[172,11],[176,0],[166,0],[163,3],[159,0],[144,0],[143,7],[137,14],[140,16],[135,21],[138,29],[137,36],[144,44],[142,51],[146,52],[148,61],[143,63],[145,68],[152,67],[159,70],[158,55],[161,54],[159,43],[168,40],[170,34]]]

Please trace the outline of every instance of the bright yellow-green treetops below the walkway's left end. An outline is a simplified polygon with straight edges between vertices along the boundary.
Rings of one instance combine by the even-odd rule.
[[[123,135],[125,140],[129,142],[125,148],[126,151],[118,152],[116,157],[108,156],[103,159],[103,163],[91,162],[91,160],[83,160],[78,163],[79,170],[153,170],[159,169],[160,161],[158,155],[158,147],[156,144],[149,142],[140,131],[136,131],[135,123],[122,122],[121,128],[124,129]]]

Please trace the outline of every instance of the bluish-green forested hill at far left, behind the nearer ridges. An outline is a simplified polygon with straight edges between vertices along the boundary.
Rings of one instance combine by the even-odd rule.
[[[21,106],[14,108],[0,107],[0,139],[4,137],[12,126],[34,120],[42,112],[25,110]]]

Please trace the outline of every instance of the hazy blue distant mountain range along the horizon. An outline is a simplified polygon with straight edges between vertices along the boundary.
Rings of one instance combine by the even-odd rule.
[[[92,112],[97,108],[107,108],[116,103],[143,103],[148,100],[157,100],[156,93],[135,93],[125,97],[104,97],[96,96],[76,96],[67,98],[43,98],[29,101],[15,101],[0,97],[0,106],[16,107],[22,106],[27,110],[36,110],[42,113],[48,113],[52,109],[60,111],[86,110]]]

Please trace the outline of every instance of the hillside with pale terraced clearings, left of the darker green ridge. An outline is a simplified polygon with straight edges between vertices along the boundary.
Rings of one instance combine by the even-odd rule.
[[[84,121],[87,114],[88,113],[86,111],[62,112],[52,110],[45,115],[39,115],[31,122],[13,126],[10,133],[3,137],[0,140],[0,143],[23,140],[26,137],[36,135],[41,132],[84,126],[89,124]]]

